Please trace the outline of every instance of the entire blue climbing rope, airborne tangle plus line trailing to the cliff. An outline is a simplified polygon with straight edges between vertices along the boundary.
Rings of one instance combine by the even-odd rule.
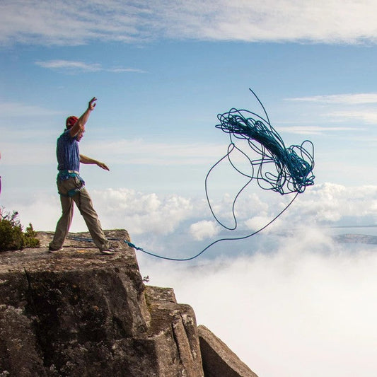
[[[255,112],[248,110],[237,110],[232,108],[224,114],[219,114],[217,117],[220,124],[216,125],[216,128],[221,129],[223,132],[229,134],[230,143],[228,145],[228,150],[225,156],[221,157],[219,161],[214,163],[214,165],[209,169],[209,172],[205,178],[205,192],[207,197],[207,202],[209,204],[209,209],[211,214],[214,216],[216,222],[222,227],[228,229],[229,231],[234,231],[237,228],[237,219],[235,213],[235,207],[238,197],[245,190],[248,185],[250,185],[253,180],[257,181],[263,190],[272,190],[274,192],[279,192],[281,195],[292,194],[296,192],[293,199],[286,205],[286,207],[277,214],[271,221],[269,221],[265,226],[254,231],[253,233],[248,234],[247,236],[234,237],[234,238],[220,238],[214,240],[202,251],[193,255],[192,257],[187,258],[174,258],[174,257],[164,257],[163,255],[158,255],[151,253],[143,248],[139,248],[133,243],[123,240],[124,243],[127,243],[129,247],[134,248],[135,250],[140,250],[142,253],[151,255],[152,257],[158,257],[163,260],[172,260],[172,261],[189,261],[193,260],[199,255],[202,255],[206,250],[224,240],[243,240],[245,238],[250,238],[255,236],[257,233],[263,231],[267,226],[272,224],[279,216],[281,216],[286,209],[288,209],[291,204],[294,202],[298,194],[301,194],[305,191],[307,186],[314,184],[313,168],[314,168],[314,146],[313,143],[309,140],[303,141],[301,145],[291,145],[286,147],[282,137],[277,133],[277,131],[272,127],[269,122],[269,117],[263,106],[260,99],[257,95],[250,89],[251,93],[255,96],[257,101],[262,106],[263,111],[265,112],[265,117],[257,115]],[[241,139],[247,142],[250,146],[250,150],[253,151],[255,158],[251,158],[248,153],[241,150],[235,144],[235,139]],[[311,149],[308,151],[308,149]],[[249,173],[245,173],[236,167],[231,159],[231,153],[233,151],[240,152],[248,161],[248,166],[250,168]],[[232,204],[232,215],[234,220],[234,226],[226,226],[217,218],[214,213],[214,209],[211,206],[211,201],[208,194],[208,180],[212,171],[216,166],[219,166],[219,163],[228,159],[228,162],[231,166],[245,178],[248,178],[248,182],[241,187],[238,191],[236,197],[233,200]],[[72,237],[76,240],[87,240],[92,241],[91,238],[79,238]],[[113,240],[122,241],[117,238],[112,238]]]

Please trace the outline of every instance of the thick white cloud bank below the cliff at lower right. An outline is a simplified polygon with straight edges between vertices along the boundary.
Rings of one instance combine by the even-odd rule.
[[[351,253],[308,228],[272,253],[194,268],[142,256],[139,264],[149,284],[173,287],[258,376],[376,373],[376,248]]]

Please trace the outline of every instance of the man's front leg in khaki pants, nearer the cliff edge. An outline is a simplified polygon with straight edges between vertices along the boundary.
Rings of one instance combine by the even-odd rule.
[[[93,203],[88,191],[84,187],[80,192],[78,192],[74,197],[74,202],[80,210],[83,219],[88,226],[88,230],[91,233],[95,245],[101,250],[107,250],[110,247],[109,241],[106,239],[103,233],[100,220],[98,219],[98,214],[93,208]]]

